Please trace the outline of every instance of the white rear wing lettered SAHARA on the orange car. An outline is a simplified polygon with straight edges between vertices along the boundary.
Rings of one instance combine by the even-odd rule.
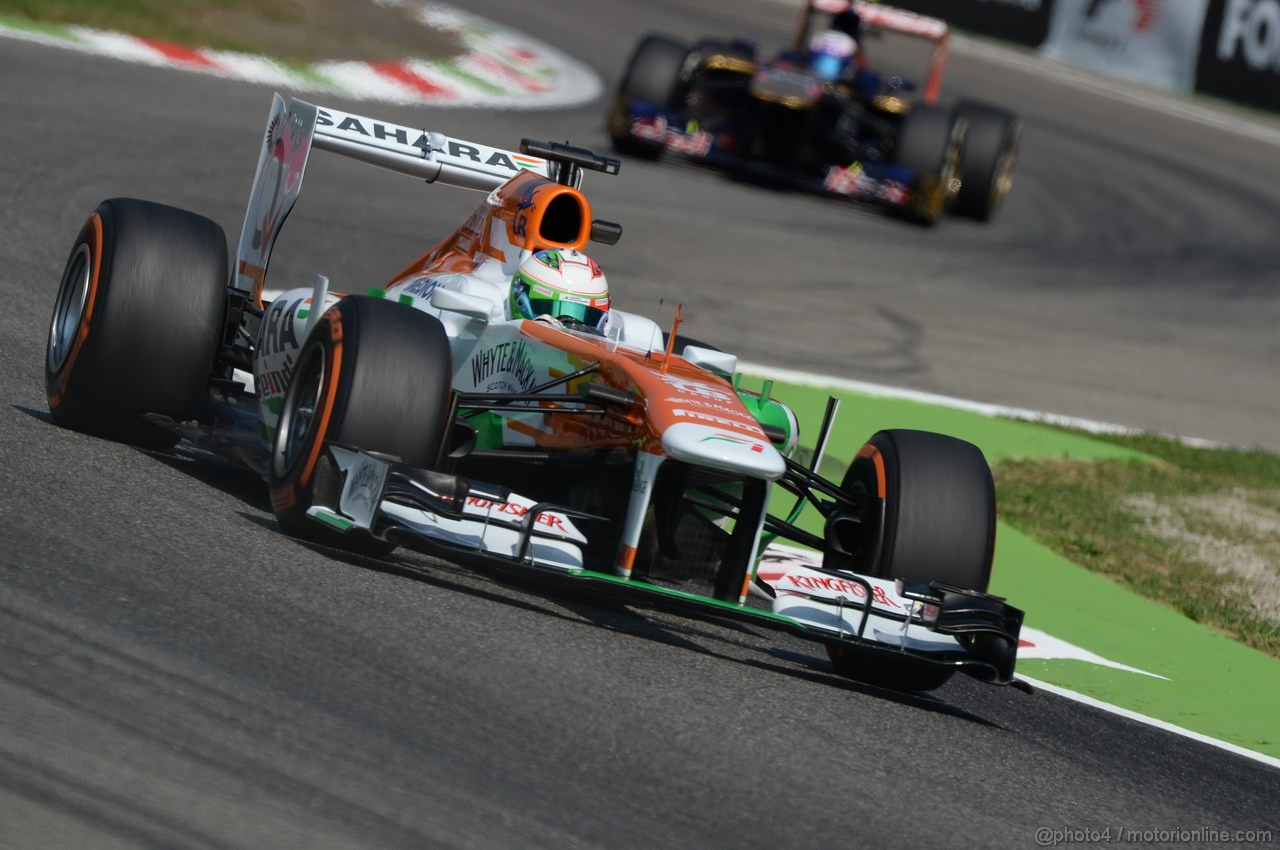
[[[251,293],[252,303],[261,303],[271,247],[302,192],[302,175],[312,147],[408,174],[428,183],[481,191],[495,189],[526,170],[556,179],[562,169],[575,168],[571,164],[466,142],[444,133],[314,106],[296,99],[285,104],[283,97],[275,95],[268,114],[266,138],[259,155],[253,189],[244,211],[233,282],[237,289]],[[577,175],[575,170],[575,179]]]

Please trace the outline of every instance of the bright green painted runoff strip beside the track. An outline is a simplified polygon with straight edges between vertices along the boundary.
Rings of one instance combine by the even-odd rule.
[[[742,385],[759,389],[759,379]],[[828,396],[841,399],[823,474],[838,480],[849,458],[878,430],[950,434],[1005,457],[1140,458],[1132,449],[1020,420],[774,381],[772,396],[795,410],[810,445]],[[778,512],[790,503],[781,497]],[[812,517],[810,517],[812,520]],[[803,522],[810,530],[812,522]],[[1020,659],[1018,672],[1097,700],[1271,757],[1280,757],[1280,659],[1243,646],[1110,579],[1061,558],[1000,522],[991,591],[1027,612],[1025,625],[1155,678],[1083,661]]]

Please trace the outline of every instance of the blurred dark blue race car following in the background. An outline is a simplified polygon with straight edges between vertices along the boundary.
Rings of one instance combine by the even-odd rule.
[[[923,91],[872,70],[864,42],[931,45]],[[608,116],[613,146],[671,151],[836,196],[924,224],[946,210],[989,220],[1012,186],[1020,122],[977,102],[938,102],[946,22],[860,0],[806,0],[795,44],[762,61],[754,44],[660,35],[631,54]]]

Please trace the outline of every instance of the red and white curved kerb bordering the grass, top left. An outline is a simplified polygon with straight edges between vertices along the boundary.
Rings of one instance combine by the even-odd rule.
[[[268,56],[183,47],[119,32],[41,24],[8,15],[0,15],[0,36],[291,91],[393,104],[544,109],[585,104],[603,91],[599,77],[582,63],[490,20],[438,3],[416,6],[415,14],[424,27],[452,35],[463,52],[447,60],[300,65]]]

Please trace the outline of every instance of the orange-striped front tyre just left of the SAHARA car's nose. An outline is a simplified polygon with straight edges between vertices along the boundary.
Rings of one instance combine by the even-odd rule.
[[[430,469],[445,438],[453,362],[439,320],[412,307],[352,296],[325,311],[298,352],[271,447],[271,509],[289,534],[383,556],[394,544],[310,518],[337,504],[342,472],[325,443]]]

